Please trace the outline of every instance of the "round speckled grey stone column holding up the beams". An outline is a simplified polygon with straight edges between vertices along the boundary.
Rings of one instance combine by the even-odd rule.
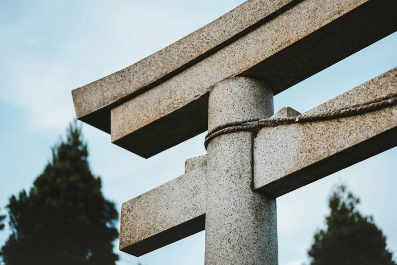
[[[208,129],[273,114],[264,83],[234,77],[209,93]],[[206,265],[276,265],[276,201],[252,187],[252,132],[232,132],[208,145],[205,217]]]

